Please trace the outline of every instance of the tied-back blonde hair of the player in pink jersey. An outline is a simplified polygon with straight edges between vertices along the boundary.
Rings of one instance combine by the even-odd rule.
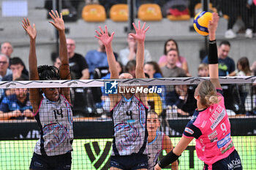
[[[211,106],[211,104],[219,103],[219,96],[217,96],[216,88],[210,80],[206,80],[200,83],[198,94],[200,96],[200,103],[203,106],[208,107]]]

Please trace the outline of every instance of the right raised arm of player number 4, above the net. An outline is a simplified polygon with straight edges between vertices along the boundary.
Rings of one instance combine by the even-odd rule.
[[[135,25],[135,23],[132,23],[133,27],[135,28],[136,34],[129,34],[130,36],[133,36],[138,42],[137,47],[137,53],[136,53],[136,69],[135,69],[135,75],[136,78],[145,78],[144,73],[144,49],[145,49],[145,36],[146,31],[148,31],[148,28],[145,29],[146,23],[143,24],[143,27],[140,28],[140,20],[138,21],[138,28]]]

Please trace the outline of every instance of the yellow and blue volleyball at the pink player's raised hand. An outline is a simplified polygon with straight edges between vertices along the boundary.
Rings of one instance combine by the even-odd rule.
[[[194,18],[194,28],[198,34],[208,36],[208,23],[212,20],[211,12],[199,12]]]

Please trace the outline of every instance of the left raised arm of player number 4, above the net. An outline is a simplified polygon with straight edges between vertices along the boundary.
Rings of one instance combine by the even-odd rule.
[[[96,30],[96,33],[98,34],[98,36],[95,36],[95,37],[99,39],[102,42],[102,44],[105,46],[105,50],[108,57],[108,66],[110,70],[110,79],[118,79],[119,75],[118,75],[118,69],[116,67],[116,58],[112,49],[112,40],[115,32],[113,32],[111,36],[109,36],[107,26],[105,26],[105,31],[103,31],[102,28],[99,26],[99,31]]]

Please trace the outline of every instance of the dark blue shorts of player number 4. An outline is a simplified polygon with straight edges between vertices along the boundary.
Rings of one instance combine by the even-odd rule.
[[[124,170],[148,169],[148,155],[111,155],[110,167],[116,167]]]

